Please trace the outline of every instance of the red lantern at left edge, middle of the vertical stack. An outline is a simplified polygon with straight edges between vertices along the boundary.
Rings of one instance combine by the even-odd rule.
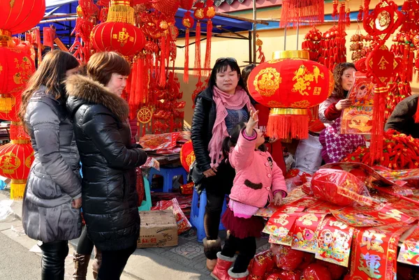
[[[20,95],[34,71],[30,53],[0,47],[0,119],[18,120]]]

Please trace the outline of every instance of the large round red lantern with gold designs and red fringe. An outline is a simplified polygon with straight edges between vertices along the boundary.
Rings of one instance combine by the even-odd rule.
[[[251,71],[247,86],[258,103],[272,108],[267,135],[308,138],[307,108],[325,101],[334,87],[328,68],[309,60],[307,51],[284,51]]]

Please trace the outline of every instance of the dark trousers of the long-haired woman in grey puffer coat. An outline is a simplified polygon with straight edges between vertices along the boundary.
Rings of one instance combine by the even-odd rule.
[[[39,246],[42,251],[41,279],[64,280],[64,267],[68,255],[68,241],[54,241]]]

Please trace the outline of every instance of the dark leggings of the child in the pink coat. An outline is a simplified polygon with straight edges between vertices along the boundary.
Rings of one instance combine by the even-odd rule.
[[[244,239],[240,239],[230,235],[226,239],[221,255],[233,258],[236,251],[239,251],[239,255],[235,260],[233,272],[246,272],[251,259],[256,254],[256,237],[246,237]]]

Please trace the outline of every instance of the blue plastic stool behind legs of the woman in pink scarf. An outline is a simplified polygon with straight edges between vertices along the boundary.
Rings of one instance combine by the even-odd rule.
[[[199,207],[198,207],[199,202]],[[191,207],[191,218],[189,221],[191,225],[196,228],[196,236],[198,237],[198,242],[203,242],[205,238],[205,229],[204,229],[204,214],[205,214],[205,206],[207,205],[207,193],[204,190],[200,196],[198,196],[198,192],[195,188],[193,188],[193,195],[192,195],[192,207]],[[221,216],[223,216],[224,212],[226,212],[227,205],[226,205],[226,198],[224,198],[223,203],[223,210],[221,212]],[[225,230],[223,223],[220,221],[219,230]]]

